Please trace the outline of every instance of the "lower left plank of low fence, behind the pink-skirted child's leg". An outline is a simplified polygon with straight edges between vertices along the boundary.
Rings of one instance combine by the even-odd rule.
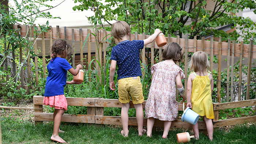
[[[53,121],[53,113],[34,113],[35,121]],[[95,123],[95,115],[63,114],[62,122]]]

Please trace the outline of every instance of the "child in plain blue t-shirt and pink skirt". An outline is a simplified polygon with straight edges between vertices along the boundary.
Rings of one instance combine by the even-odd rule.
[[[76,69],[72,68],[65,59],[72,52],[72,47],[63,39],[55,41],[51,47],[52,60],[47,65],[48,76],[45,84],[44,105],[54,107],[53,113],[53,134],[51,140],[59,143],[66,143],[60,136],[61,117],[67,110],[67,100],[64,95],[64,87],[66,84],[81,84],[81,82],[67,82],[67,71],[72,75],[77,75],[82,65],[78,64]]]

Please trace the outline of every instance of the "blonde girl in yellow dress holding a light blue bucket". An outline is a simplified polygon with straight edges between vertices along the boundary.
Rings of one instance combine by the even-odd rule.
[[[210,140],[213,139],[214,118],[212,106],[213,77],[210,71],[207,53],[198,51],[192,55],[190,68],[193,71],[188,76],[187,84],[187,107],[203,117]],[[192,125],[195,138],[199,139],[198,123]]]

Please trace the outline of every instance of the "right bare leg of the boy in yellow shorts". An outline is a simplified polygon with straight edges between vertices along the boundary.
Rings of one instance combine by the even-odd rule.
[[[134,104],[134,107],[136,110],[136,119],[137,119],[137,123],[138,123],[139,136],[142,136],[144,133],[146,133],[146,130],[143,129],[144,113],[143,113],[142,103]]]

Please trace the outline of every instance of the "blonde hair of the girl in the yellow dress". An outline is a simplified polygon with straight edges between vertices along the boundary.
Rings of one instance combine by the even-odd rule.
[[[207,75],[207,71],[210,69],[210,61],[208,60],[207,53],[203,51],[195,52],[190,61],[190,69],[194,72],[199,72],[200,76]]]

